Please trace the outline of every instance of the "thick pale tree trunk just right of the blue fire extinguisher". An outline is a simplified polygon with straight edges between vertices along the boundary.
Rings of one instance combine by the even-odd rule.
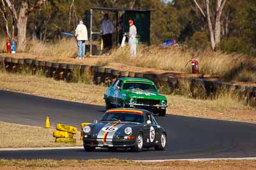
[[[20,52],[24,52],[26,48],[26,29],[27,29],[27,22],[28,22],[28,15],[26,12],[28,11],[28,2],[22,1],[20,12],[19,12],[19,19],[17,20],[17,29],[18,29],[18,46]]]

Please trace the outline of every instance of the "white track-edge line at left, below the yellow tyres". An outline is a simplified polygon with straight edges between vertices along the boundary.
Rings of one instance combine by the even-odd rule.
[[[68,147],[49,147],[49,148],[0,148],[0,151],[19,151],[19,150],[70,150],[83,149],[83,146],[68,146]]]

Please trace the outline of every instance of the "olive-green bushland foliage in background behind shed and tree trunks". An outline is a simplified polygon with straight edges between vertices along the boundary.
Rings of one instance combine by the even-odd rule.
[[[13,1],[18,13],[20,2],[20,0]],[[212,12],[215,2],[210,1]],[[28,1],[28,3],[31,8],[36,0]],[[159,45],[166,39],[176,39],[179,43],[184,43],[195,50],[205,50],[209,46],[207,22],[191,0],[84,0],[74,1],[74,6],[70,8],[71,4],[72,0],[48,0],[40,9],[33,10],[28,17],[27,36],[39,40],[61,39],[63,38],[61,32],[74,32],[77,19],[86,18],[85,11],[92,7],[132,8],[154,10],[150,27],[152,44]],[[0,8],[3,9],[3,4],[0,4]],[[9,29],[12,30],[12,15],[7,7],[6,10]],[[115,21],[116,16],[112,11],[94,11],[94,31],[99,31],[104,13],[109,13],[110,18]],[[221,18],[221,50],[254,55],[256,1],[228,0]],[[6,34],[3,16],[1,16],[0,34]],[[99,36],[93,36],[93,38],[99,39]]]

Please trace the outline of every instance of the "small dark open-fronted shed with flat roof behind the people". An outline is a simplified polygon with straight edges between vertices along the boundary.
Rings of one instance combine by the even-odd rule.
[[[90,55],[92,55],[92,36],[93,34],[100,34],[100,32],[93,32],[93,11],[111,11],[116,15],[116,20],[113,20],[116,31],[113,32],[113,37],[116,39],[116,45],[118,43],[118,34],[117,34],[117,25],[118,25],[118,17],[120,17],[120,13],[123,16],[123,32],[124,34],[129,32],[129,20],[134,21],[134,25],[137,28],[137,35],[139,43],[143,43],[145,45],[150,45],[150,12],[152,10],[132,10],[127,8],[91,8],[86,11],[86,26],[90,30]],[[115,35],[114,35],[115,34]]]

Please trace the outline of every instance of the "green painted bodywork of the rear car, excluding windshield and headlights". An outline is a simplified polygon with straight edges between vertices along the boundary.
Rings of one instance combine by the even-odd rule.
[[[125,83],[143,83],[143,84],[148,84],[148,85],[153,85],[156,89],[156,91],[152,90],[124,90],[124,84]],[[117,87],[117,88],[116,88]],[[119,88],[120,87],[120,88]],[[134,98],[135,103],[131,104],[130,99]],[[156,85],[154,84],[153,81],[145,79],[145,78],[118,78],[118,80],[109,87],[105,94],[104,94],[104,99],[106,101],[106,104],[111,104],[112,107],[136,107],[136,108],[166,108],[166,106],[161,106],[161,101],[166,101],[167,105],[167,99],[165,96],[159,94]],[[143,99],[143,102],[138,104],[138,99]],[[158,100],[159,102],[156,103],[157,101],[154,101],[154,104],[148,103],[148,100],[152,102],[152,100]],[[137,106],[136,104],[140,105]],[[134,106],[133,106],[134,105]],[[156,106],[157,105],[157,106]]]

